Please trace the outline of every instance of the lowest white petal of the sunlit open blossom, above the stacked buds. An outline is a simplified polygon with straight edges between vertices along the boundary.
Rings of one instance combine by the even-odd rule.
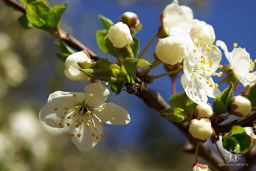
[[[188,98],[190,98],[196,104],[205,104],[208,100],[206,92],[203,89],[203,83],[195,76],[190,77],[189,81],[185,74],[181,76],[180,83],[184,88]]]

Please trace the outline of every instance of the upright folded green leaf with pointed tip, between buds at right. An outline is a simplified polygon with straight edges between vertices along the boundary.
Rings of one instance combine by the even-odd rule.
[[[230,104],[231,98],[233,96],[234,86],[231,82],[225,90],[223,90],[219,96],[216,96],[213,100],[213,110],[214,114],[220,115],[228,112],[227,106]]]

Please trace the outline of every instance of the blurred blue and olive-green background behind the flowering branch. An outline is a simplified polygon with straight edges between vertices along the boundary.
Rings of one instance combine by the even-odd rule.
[[[66,3],[64,0],[49,2],[51,6]],[[95,34],[98,29],[103,29],[97,15],[103,14],[115,23],[123,12],[138,14],[143,29],[136,36],[140,39],[141,48],[144,48],[160,26],[160,13],[170,2],[73,0],[69,2],[62,16],[61,27],[100,57],[109,57],[114,62],[113,57],[102,53],[97,47]],[[183,0],[180,4],[190,6],[195,18],[212,24],[216,37],[226,41],[230,51],[234,41],[238,45],[242,42],[241,46],[246,47],[252,57],[255,54],[253,47],[256,45],[256,41],[252,40],[255,35],[252,30],[255,30],[256,22],[255,14],[254,18],[250,18],[250,14],[255,2],[252,0],[242,5],[232,2]],[[232,14],[230,9],[233,12],[239,9],[240,12]],[[244,20],[240,13],[246,13],[248,18],[245,17]],[[158,112],[149,109],[142,100],[124,91],[118,96],[112,92],[108,102],[126,108],[131,116],[130,124],[104,124],[106,137],[90,152],[78,151],[68,136],[68,130],[50,128],[41,122],[38,114],[50,93],[56,90],[82,92],[88,83],[68,80],[64,76],[64,63],[55,56],[60,53],[54,45],[56,39],[35,28],[23,29],[17,23],[20,16],[20,12],[0,1],[0,171],[191,169],[194,154],[182,150],[187,143],[184,136],[161,118]],[[249,23],[251,20],[254,22]],[[250,37],[245,37],[249,34]],[[153,61],[154,45],[153,43],[145,55],[145,59],[150,62]],[[153,70],[152,75],[163,72],[164,69],[159,67]],[[168,77],[156,80],[150,87],[160,91],[166,100],[171,96]],[[177,89],[182,90],[179,81]],[[237,93],[240,90],[241,86]]]

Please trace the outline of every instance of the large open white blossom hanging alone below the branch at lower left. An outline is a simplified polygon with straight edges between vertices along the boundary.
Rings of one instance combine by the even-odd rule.
[[[109,90],[100,81],[85,87],[84,92],[56,91],[40,111],[48,126],[70,127],[70,138],[80,151],[89,151],[104,137],[101,123],[128,124],[128,112],[114,103],[105,103]]]

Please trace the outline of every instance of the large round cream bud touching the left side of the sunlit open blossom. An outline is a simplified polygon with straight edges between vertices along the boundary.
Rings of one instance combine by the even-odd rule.
[[[175,65],[186,57],[188,49],[182,37],[168,36],[158,41],[155,53],[163,63]]]

